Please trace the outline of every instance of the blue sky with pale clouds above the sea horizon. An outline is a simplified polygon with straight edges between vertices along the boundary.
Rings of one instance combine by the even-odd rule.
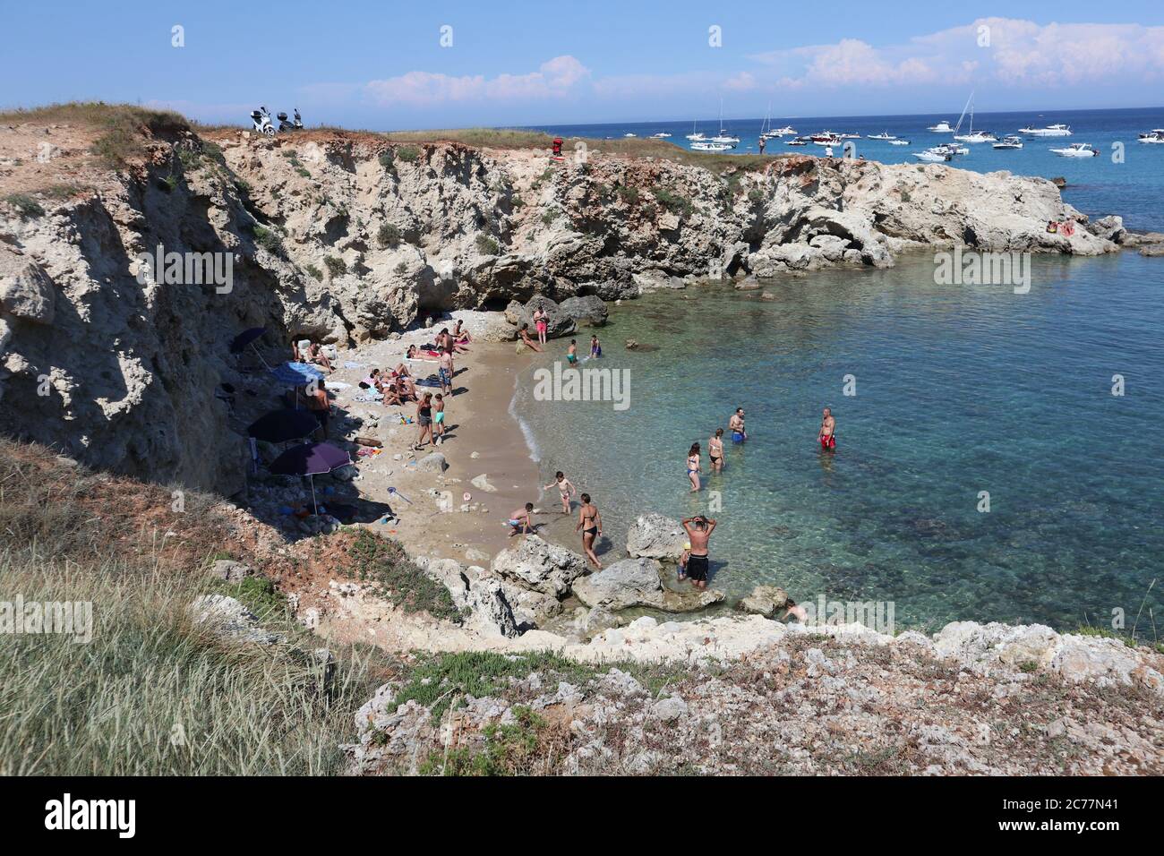
[[[769,101],[778,118],[949,113],[971,89],[981,112],[1157,106],[1162,84],[1159,0],[0,0],[3,107],[242,122],[298,105],[310,125],[391,129],[714,118],[721,98],[728,119]]]

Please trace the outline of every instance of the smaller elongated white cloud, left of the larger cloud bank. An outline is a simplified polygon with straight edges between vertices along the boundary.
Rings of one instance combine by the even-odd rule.
[[[526,75],[432,73],[410,71],[406,75],[364,85],[364,93],[375,102],[433,105],[468,100],[534,100],[569,94],[590,76],[589,69],[572,56],[559,56]]]

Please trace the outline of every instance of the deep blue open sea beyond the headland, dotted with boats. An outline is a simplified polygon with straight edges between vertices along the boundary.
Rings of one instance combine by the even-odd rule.
[[[774,128],[790,125],[801,134],[821,130],[836,133],[853,132],[861,139],[853,140],[856,155],[864,155],[882,163],[918,163],[914,153],[941,142],[950,142],[951,134],[935,134],[927,127],[945,119],[951,126],[958,121],[963,105],[951,105],[952,113],[914,116],[773,116]],[[757,154],[762,119],[725,120],[724,127],[740,137],[732,154]],[[1137,229],[1164,231],[1164,146],[1145,146],[1137,142],[1138,134],[1150,128],[1164,127],[1164,107],[1142,109],[1065,111],[1049,113],[975,113],[974,128],[992,130],[1001,140],[1005,134],[1016,134],[1028,126],[1045,127],[1052,123],[1070,125],[1074,132],[1069,137],[1025,139],[1024,147],[1015,150],[991,148],[991,143],[971,144],[968,155],[957,158],[952,165],[979,172],[1009,170],[1016,175],[1064,177],[1067,188],[1063,192],[1066,201],[1085,214],[1101,217],[1122,214],[1127,226]],[[961,133],[968,129],[970,115],[963,120]],[[698,129],[714,135],[719,121],[712,116],[701,119]],[[691,120],[675,122],[644,122],[638,125],[570,125],[538,128],[561,136],[587,136],[596,139],[622,137],[630,132],[638,136],[650,136],[659,132],[670,133],[667,141],[687,147],[684,139],[691,133]],[[909,140],[910,146],[890,146],[886,141],[870,140],[870,134],[888,133]],[[767,154],[795,151],[823,154],[818,146],[790,148],[786,140],[768,142]],[[1073,142],[1086,142],[1100,149],[1099,157],[1069,158],[1050,151],[1065,148]],[[1123,162],[1113,161],[1112,146],[1122,143]],[[835,154],[840,156],[840,151]]]

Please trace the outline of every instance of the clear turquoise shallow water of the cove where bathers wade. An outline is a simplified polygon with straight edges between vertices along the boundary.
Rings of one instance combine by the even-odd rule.
[[[533,401],[531,373],[519,380],[514,411],[542,483],[561,468],[594,495],[608,558],[636,515],[707,512],[711,489],[714,585],[732,594],[776,582],[797,600],[893,601],[899,623],[929,627],[1074,628],[1120,607],[1130,627],[1164,575],[1159,260],[1036,257],[1028,295],[935,285],[930,256],[768,290],[778,299],[716,285],[616,309],[601,362],[631,370],[624,412]],[[630,338],[658,349],[629,352]],[[551,341],[535,365],[565,348]],[[825,405],[832,455],[815,441]],[[707,440],[736,406],[750,440],[728,444],[725,472],[689,494],[688,446],[703,445],[707,467]],[[1162,594],[1164,580],[1141,629],[1151,608],[1164,630]]]

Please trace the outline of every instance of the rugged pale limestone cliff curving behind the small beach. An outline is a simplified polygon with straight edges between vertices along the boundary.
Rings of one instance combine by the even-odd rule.
[[[215,396],[247,327],[268,328],[274,361],[292,337],[342,346],[533,295],[633,297],[956,243],[1098,254],[1122,234],[1117,218],[1050,234],[1049,220],[1087,224],[1050,182],[944,165],[712,169],[601,144],[554,162],[151,119],[111,156],[129,132],[99,132],[36,112],[0,120],[0,430],[223,493],[240,487],[243,447]],[[213,260],[229,282],[143,269],[141,254],[169,253]]]

